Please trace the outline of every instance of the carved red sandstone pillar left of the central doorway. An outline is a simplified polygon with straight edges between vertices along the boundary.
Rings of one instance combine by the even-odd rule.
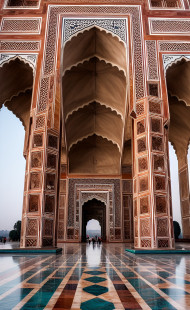
[[[40,70],[40,64],[39,68]],[[26,172],[20,246],[56,245],[58,199],[60,97],[55,97],[55,77],[42,77],[34,89]],[[35,80],[38,83],[38,80]],[[59,83],[56,83],[59,90]],[[60,186],[61,187],[61,186]]]

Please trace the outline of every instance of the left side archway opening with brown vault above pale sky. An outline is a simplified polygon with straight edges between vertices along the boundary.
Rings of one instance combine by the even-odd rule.
[[[16,57],[0,67],[0,81],[0,230],[12,230],[22,214],[33,69]]]

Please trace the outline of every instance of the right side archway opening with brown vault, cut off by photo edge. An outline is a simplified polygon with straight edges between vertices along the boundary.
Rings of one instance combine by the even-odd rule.
[[[166,81],[170,116],[169,141],[175,149],[178,160],[177,169],[181,206],[181,212],[178,211],[178,222],[180,222],[181,216],[183,237],[189,239],[190,201],[187,152],[190,140],[190,62],[185,58],[180,58],[179,61],[173,63],[166,71]],[[171,166],[172,175],[176,167],[175,161],[172,162],[171,160]],[[177,177],[175,177],[176,188],[177,180]],[[175,205],[175,203],[173,204]]]

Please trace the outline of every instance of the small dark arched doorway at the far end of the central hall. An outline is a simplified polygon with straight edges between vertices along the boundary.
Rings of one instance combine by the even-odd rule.
[[[82,242],[90,238],[101,236],[106,241],[106,205],[104,202],[92,199],[82,206]]]

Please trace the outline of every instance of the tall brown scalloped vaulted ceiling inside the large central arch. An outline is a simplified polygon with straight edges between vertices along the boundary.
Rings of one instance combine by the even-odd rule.
[[[70,173],[120,173],[126,68],[124,43],[102,29],[66,43],[62,90]]]

